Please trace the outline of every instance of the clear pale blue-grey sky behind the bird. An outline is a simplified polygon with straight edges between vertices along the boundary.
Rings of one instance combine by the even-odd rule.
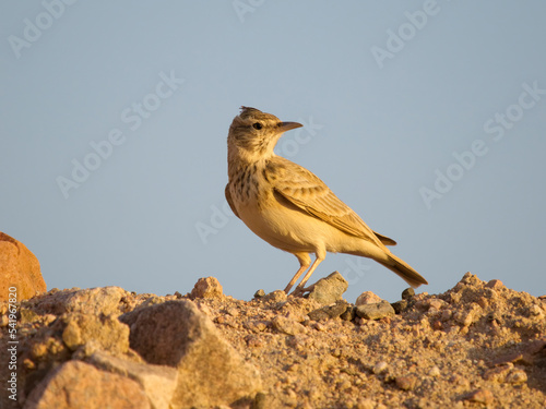
[[[304,128],[314,172],[441,293],[466,272],[546,293],[546,2],[3,1],[0,231],[48,289],[159,296],[214,276],[249,300],[296,257],[228,209],[240,106]],[[376,262],[328,254],[345,298],[396,301]]]

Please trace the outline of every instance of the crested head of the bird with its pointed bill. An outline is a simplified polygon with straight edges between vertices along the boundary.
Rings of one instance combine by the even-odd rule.
[[[299,127],[302,124],[283,122],[274,115],[256,108],[241,107],[240,113],[234,118],[229,127],[228,154],[249,161],[271,157],[281,135]]]

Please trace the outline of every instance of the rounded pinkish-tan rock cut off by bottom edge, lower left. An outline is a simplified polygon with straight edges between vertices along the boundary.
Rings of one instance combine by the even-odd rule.
[[[139,384],[99,371],[88,363],[69,361],[51,371],[28,396],[24,409],[150,409]]]

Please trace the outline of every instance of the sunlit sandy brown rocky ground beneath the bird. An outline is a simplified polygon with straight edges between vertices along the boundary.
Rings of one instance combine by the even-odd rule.
[[[441,294],[308,298],[51,290],[16,304],[17,400],[2,408],[545,408],[546,297],[472,274]]]

